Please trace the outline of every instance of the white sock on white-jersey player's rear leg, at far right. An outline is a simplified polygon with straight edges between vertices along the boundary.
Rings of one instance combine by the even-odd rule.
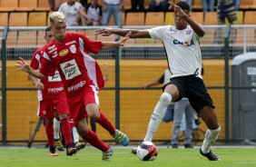
[[[216,130],[207,130],[202,142],[202,152],[210,152],[210,147],[217,140],[219,133],[221,132],[221,126]]]

